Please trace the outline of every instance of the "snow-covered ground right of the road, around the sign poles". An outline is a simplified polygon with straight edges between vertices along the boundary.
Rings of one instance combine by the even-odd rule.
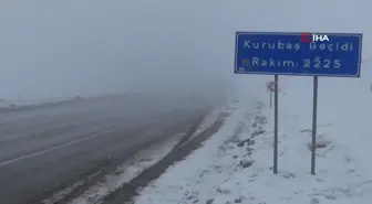
[[[278,174],[262,83],[265,95],[240,95],[220,131],[141,190],[135,203],[371,203],[372,94],[363,82],[320,78],[316,175],[310,174],[311,78],[280,77]]]

